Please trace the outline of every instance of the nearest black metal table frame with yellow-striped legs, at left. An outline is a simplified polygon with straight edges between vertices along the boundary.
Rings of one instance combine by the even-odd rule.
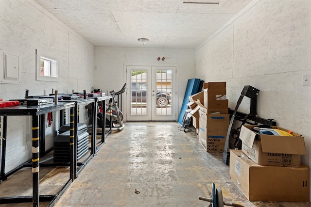
[[[74,179],[74,102],[63,102],[55,104],[46,104],[40,106],[14,106],[14,107],[5,107],[0,109],[0,116],[3,116],[3,134],[2,137],[5,140],[2,140],[1,145],[1,172],[0,172],[0,179],[5,180],[7,178],[7,174],[4,172],[5,167],[5,148],[6,148],[6,131],[7,131],[7,116],[32,116],[32,173],[33,173],[33,196],[20,196],[20,197],[6,197],[0,198],[0,203],[20,203],[20,202],[30,202],[32,199],[33,206],[39,206],[39,158],[40,158],[40,124],[39,124],[39,116],[45,113],[49,113],[52,111],[60,111],[64,109],[70,108],[70,176],[68,182],[65,186],[61,189],[64,190],[66,186],[68,186]],[[60,191],[60,192],[61,192]],[[60,193],[59,192],[59,193]],[[56,199],[59,195],[47,195],[47,196],[40,196],[40,201],[52,201]]]

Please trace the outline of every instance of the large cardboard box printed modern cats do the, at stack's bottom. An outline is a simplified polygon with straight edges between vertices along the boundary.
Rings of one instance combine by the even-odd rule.
[[[204,111],[200,108],[198,112],[199,142],[207,152],[223,152],[229,127],[229,114],[207,114],[206,108]]]

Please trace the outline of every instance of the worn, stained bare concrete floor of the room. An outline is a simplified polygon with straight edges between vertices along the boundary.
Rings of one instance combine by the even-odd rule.
[[[222,153],[207,153],[195,134],[179,127],[176,122],[126,122],[122,131],[107,136],[54,206],[207,207],[209,203],[198,197],[209,198],[214,182],[225,202],[244,207],[311,207],[311,203],[248,201],[230,179]],[[46,204],[40,202],[41,206]]]

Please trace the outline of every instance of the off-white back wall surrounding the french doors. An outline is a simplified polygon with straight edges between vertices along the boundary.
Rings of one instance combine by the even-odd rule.
[[[137,44],[139,43],[137,42]],[[165,60],[157,61],[158,57],[165,57]],[[177,112],[179,114],[188,79],[195,78],[194,50],[95,47],[94,88],[102,89],[105,93],[111,90],[120,90],[126,82],[124,73],[124,65],[126,64],[175,64],[178,70],[176,88],[179,93],[179,96],[177,95]]]

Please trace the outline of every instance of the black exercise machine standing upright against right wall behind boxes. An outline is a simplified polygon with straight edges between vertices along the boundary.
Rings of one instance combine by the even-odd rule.
[[[230,123],[228,127],[228,132],[226,136],[226,141],[225,141],[225,148],[224,148],[224,153],[223,153],[223,162],[225,164],[229,164],[229,159],[230,159],[230,154],[229,154],[229,142],[230,138],[234,138],[234,148],[235,149],[241,149],[242,146],[242,141],[239,139],[240,136],[240,130],[242,125],[244,124],[249,124],[249,125],[258,125],[258,123],[262,125],[268,125],[268,126],[276,126],[276,122],[274,119],[264,119],[261,118],[257,115],[257,96],[259,95],[259,90],[250,86],[250,85],[245,85],[242,92],[241,96],[237,102],[237,105],[234,109],[234,111],[229,109],[229,114],[231,116],[230,118]],[[239,112],[239,106],[244,98],[244,96],[250,98],[250,113],[242,113]],[[234,121],[240,121],[241,125],[240,127],[237,127],[236,129],[232,127]]]

